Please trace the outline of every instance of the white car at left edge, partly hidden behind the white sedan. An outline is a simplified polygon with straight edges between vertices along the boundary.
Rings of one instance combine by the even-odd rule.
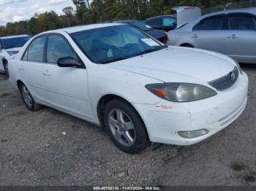
[[[30,38],[29,35],[0,37],[0,72],[8,75],[8,61]]]

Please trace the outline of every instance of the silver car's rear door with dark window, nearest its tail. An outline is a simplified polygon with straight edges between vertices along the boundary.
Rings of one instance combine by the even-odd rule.
[[[225,53],[226,16],[215,15],[203,18],[190,34],[193,45],[200,49]]]

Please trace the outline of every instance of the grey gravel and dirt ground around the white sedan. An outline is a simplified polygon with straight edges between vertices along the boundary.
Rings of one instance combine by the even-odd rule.
[[[229,128],[140,155],[119,151],[89,122],[46,107],[29,112],[0,74],[0,185],[256,185],[256,66],[243,69],[249,102]]]

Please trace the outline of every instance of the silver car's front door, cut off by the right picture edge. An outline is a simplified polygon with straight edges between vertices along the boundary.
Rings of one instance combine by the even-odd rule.
[[[248,13],[230,13],[225,53],[241,62],[256,61],[256,18]]]

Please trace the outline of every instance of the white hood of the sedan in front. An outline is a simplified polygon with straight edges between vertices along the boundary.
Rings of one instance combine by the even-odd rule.
[[[162,82],[211,82],[233,71],[236,63],[225,55],[187,47],[168,47],[108,66],[159,79]]]

